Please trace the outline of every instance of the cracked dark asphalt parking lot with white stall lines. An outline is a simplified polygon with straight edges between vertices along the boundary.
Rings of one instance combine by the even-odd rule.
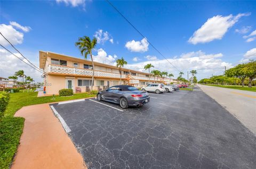
[[[256,168],[255,135],[203,91],[149,95],[128,109],[53,106],[89,168]]]

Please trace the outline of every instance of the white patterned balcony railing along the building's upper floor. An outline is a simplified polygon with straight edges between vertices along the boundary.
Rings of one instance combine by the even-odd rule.
[[[82,76],[92,76],[91,69],[81,69],[75,67],[61,66],[61,65],[48,65],[49,73],[59,73],[65,75],[82,75]],[[104,77],[104,78],[114,78],[119,79],[119,73],[111,73],[111,72],[102,72],[102,71],[94,71],[94,77]],[[122,79],[125,79],[125,75],[122,75]]]

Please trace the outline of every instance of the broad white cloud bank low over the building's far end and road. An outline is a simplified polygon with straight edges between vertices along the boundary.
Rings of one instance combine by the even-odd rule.
[[[184,58],[184,56],[189,57]],[[167,60],[184,73],[194,69],[197,70],[197,78],[201,79],[207,76],[211,76],[212,74],[222,74],[225,66],[227,66],[227,69],[233,67],[231,63],[223,62],[220,58],[222,56],[223,55],[221,53],[206,54],[199,50],[197,52],[183,53],[180,55],[180,57],[167,58]],[[155,66],[154,69],[173,73],[174,78],[177,78],[179,72],[169,62],[164,59],[158,59],[153,61],[127,64],[125,67],[128,69],[145,71],[143,70],[143,67],[146,64],[151,63]]]

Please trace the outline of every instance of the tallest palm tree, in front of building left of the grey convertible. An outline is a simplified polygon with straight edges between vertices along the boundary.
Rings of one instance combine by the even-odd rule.
[[[78,38],[78,41],[75,43],[76,46],[78,46],[81,54],[84,56],[84,58],[87,58],[87,55],[90,54],[91,61],[92,61],[92,83],[91,83],[91,90],[93,87],[93,80],[94,80],[94,63],[93,63],[93,57],[92,57],[92,50],[97,45],[97,39],[93,38],[92,40],[87,37],[80,37]]]

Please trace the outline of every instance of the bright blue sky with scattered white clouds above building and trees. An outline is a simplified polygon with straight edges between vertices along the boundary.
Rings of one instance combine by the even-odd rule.
[[[111,3],[178,70],[196,69],[198,79],[256,58],[256,2]],[[123,56],[129,63],[126,67],[131,69],[143,71],[143,65],[151,63],[175,77],[179,73],[106,1],[1,1],[0,14],[0,31],[36,65],[39,50],[82,58],[74,44],[78,37],[89,36],[99,41],[93,53],[95,61],[114,65]],[[11,49],[3,39],[0,43]],[[1,77],[21,67],[42,81],[39,73],[33,74],[3,49],[0,53]]]

